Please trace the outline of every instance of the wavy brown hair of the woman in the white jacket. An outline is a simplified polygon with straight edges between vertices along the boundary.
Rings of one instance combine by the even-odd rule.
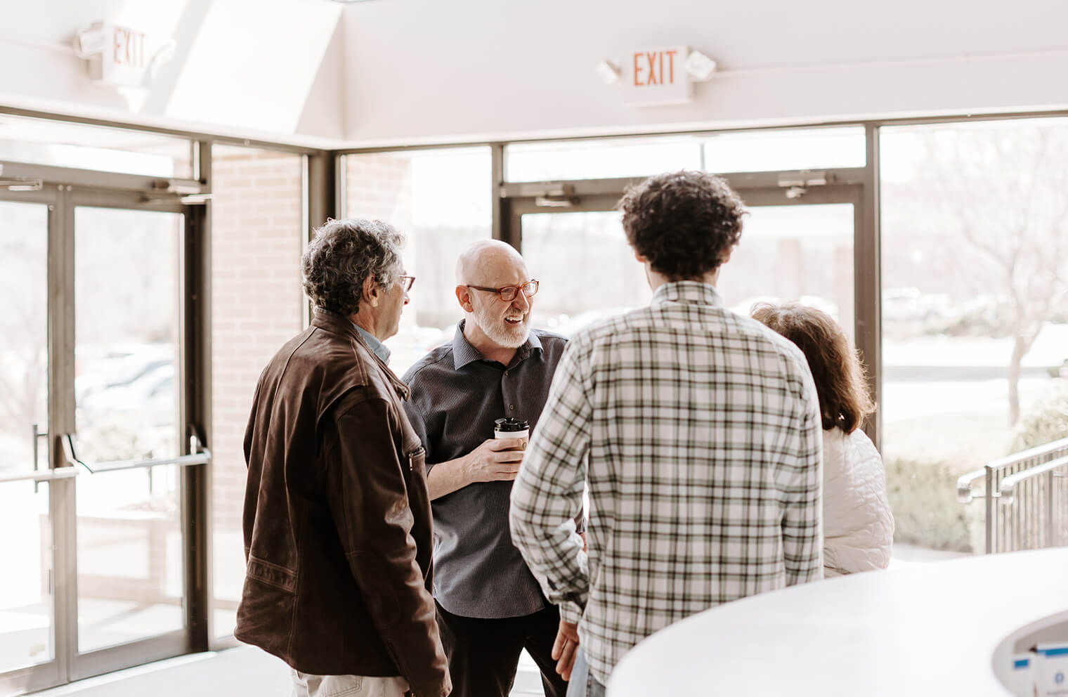
[[[752,315],[804,353],[819,395],[823,430],[837,426],[852,433],[875,411],[860,358],[833,317],[799,302],[758,303]]]

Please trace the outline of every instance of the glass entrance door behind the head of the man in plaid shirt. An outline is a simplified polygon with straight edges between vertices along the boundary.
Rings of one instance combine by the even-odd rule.
[[[858,321],[866,281],[857,279],[854,263],[860,188],[810,189],[801,201],[780,189],[739,193],[749,215],[741,242],[720,274],[724,303],[749,314],[757,302],[798,300],[834,317],[864,350],[874,322]],[[609,209],[616,200],[591,196],[578,210],[560,212],[514,204],[513,234],[518,228],[527,264],[541,282],[534,306],[539,327],[568,334],[648,303],[644,270],[627,244],[619,212]],[[874,297],[874,289],[867,290]]]

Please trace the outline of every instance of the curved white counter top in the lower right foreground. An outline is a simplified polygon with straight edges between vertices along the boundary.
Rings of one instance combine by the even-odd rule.
[[[608,695],[1007,695],[995,653],[1062,622],[1065,548],[854,574],[676,622],[623,658]]]

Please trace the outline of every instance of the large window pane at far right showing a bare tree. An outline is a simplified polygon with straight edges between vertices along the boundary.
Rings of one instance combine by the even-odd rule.
[[[1068,435],[1065,162],[1066,120],[882,130],[881,407],[899,541],[981,551],[980,506],[956,502],[956,477]]]

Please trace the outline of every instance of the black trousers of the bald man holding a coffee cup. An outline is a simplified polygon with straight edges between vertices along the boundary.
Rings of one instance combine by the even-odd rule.
[[[438,605],[438,629],[449,658],[452,697],[508,697],[523,649],[541,670],[546,697],[567,694],[567,683],[556,675],[551,655],[560,629],[555,605],[504,619],[460,617]]]

